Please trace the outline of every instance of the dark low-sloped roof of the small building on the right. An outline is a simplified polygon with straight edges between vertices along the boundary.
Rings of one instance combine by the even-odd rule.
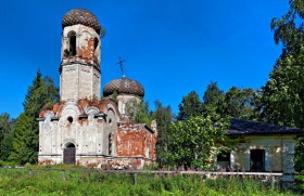
[[[297,128],[280,127],[259,121],[231,119],[228,135],[303,134]]]

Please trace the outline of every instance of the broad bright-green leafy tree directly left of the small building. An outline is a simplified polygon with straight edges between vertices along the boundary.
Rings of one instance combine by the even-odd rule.
[[[215,156],[230,147],[230,140],[225,135],[229,120],[213,119],[212,116],[191,116],[185,121],[172,123],[167,154],[170,166],[214,169]]]

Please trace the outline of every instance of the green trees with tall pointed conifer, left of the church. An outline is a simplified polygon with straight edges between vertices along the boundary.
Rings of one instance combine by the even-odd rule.
[[[10,120],[9,114],[0,115],[0,160],[13,165],[37,164],[39,128],[36,118],[43,106],[59,102],[59,89],[50,77],[38,70],[23,102],[23,113]]]

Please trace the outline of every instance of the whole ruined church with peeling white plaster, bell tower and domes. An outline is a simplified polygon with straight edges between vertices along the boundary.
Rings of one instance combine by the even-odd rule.
[[[143,99],[143,87],[123,77],[106,83],[100,97],[98,18],[71,10],[62,29],[60,103],[39,114],[39,164],[140,169],[154,162],[156,122],[134,123],[127,113]]]

